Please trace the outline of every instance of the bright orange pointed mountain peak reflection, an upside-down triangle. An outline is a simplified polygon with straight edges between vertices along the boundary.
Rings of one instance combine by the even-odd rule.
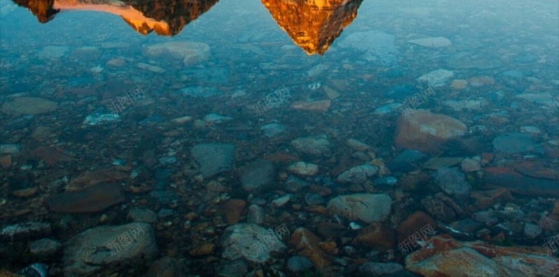
[[[363,0],[261,0],[279,27],[307,54],[324,54],[351,24]]]

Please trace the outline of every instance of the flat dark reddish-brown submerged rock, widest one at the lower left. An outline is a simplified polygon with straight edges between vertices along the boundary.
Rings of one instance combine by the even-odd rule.
[[[53,195],[45,202],[50,211],[56,213],[94,213],[124,202],[124,195],[119,185],[101,184],[77,192]]]

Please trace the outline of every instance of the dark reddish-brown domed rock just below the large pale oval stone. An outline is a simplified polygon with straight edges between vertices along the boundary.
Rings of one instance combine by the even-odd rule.
[[[354,244],[368,247],[394,248],[396,246],[396,232],[383,223],[371,223],[359,231]]]

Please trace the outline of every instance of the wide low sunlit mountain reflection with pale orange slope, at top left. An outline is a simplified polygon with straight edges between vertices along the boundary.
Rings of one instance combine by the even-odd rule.
[[[155,31],[174,36],[182,28],[210,10],[219,0],[13,0],[31,10],[39,22],[45,23],[59,11],[91,10],[119,15],[143,35]]]

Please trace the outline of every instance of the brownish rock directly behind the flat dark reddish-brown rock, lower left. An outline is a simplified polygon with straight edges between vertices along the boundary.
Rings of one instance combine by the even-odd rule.
[[[114,168],[86,171],[71,179],[70,184],[66,185],[66,191],[82,190],[101,183],[115,183],[126,179],[128,176],[128,174]]]

